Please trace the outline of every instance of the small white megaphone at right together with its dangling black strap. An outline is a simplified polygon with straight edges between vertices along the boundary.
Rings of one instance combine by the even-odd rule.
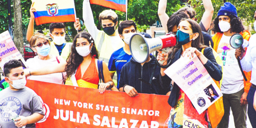
[[[246,39],[244,39],[241,34],[238,34],[238,33],[232,35],[229,42],[230,42],[231,47],[233,47],[234,49],[238,49],[239,47],[248,47],[249,46],[249,42]],[[237,61],[238,61],[239,68],[244,76],[244,79],[245,79],[245,81],[247,81],[247,78],[246,78],[245,73],[241,66],[240,57],[237,57]]]

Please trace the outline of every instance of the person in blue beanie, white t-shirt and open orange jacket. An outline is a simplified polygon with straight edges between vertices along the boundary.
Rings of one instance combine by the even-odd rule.
[[[230,46],[230,38],[236,33],[249,40],[251,34],[244,30],[241,19],[237,17],[235,6],[229,2],[224,3],[214,20],[213,31],[217,33],[212,37],[213,48],[223,61],[221,92],[223,93],[224,116],[218,125],[220,128],[228,127],[230,107],[233,112],[235,127],[246,127],[246,97],[251,86],[251,78],[245,72],[248,81],[244,81],[235,58],[235,49]]]

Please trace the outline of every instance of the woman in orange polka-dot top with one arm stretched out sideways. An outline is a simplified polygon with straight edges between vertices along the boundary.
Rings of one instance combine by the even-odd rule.
[[[110,77],[107,65],[103,62],[104,82],[99,83],[98,74],[98,57],[99,53],[95,47],[94,40],[88,32],[77,34],[73,40],[71,53],[67,62],[53,65],[44,69],[31,70],[30,75],[51,74],[56,72],[67,72],[67,85],[99,88],[99,92],[103,93],[106,89],[110,90],[114,83]],[[29,73],[28,73],[29,74]],[[101,76],[101,78],[103,77]]]

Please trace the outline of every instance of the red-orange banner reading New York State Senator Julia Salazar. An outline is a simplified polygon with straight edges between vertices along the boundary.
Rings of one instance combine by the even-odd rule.
[[[167,128],[168,96],[80,88],[27,80],[41,97],[44,118],[37,128]]]

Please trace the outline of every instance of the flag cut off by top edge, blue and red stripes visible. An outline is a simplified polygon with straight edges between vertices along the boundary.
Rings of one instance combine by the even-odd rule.
[[[90,0],[91,4],[98,4],[115,10],[126,12],[126,0]]]

